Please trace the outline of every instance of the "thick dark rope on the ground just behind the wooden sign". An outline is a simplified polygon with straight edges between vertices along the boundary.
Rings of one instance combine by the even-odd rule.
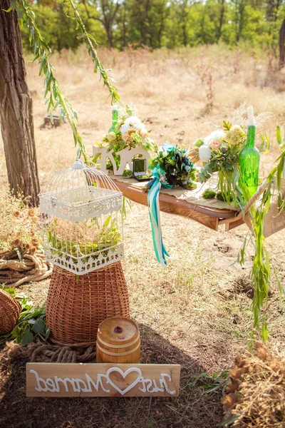
[[[30,362],[89,362],[95,360],[95,347],[89,346],[79,350],[68,346],[52,345],[38,340],[26,346],[9,342],[8,356],[11,360],[28,358]]]

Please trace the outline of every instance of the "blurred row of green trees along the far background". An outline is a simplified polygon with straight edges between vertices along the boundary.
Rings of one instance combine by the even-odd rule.
[[[68,4],[63,0],[31,3],[53,49],[76,49],[81,44],[76,23],[66,16]],[[86,29],[110,48],[224,43],[261,46],[276,55],[284,48],[285,0],[80,0],[77,4]],[[28,49],[28,31],[22,31]]]

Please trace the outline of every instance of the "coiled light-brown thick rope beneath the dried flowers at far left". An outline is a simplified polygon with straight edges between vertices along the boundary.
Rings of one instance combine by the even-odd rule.
[[[51,275],[52,265],[44,260],[40,250],[33,255],[23,255],[22,260],[6,260],[4,255],[1,256],[0,283],[5,282],[13,287],[19,287],[24,282],[41,281]]]

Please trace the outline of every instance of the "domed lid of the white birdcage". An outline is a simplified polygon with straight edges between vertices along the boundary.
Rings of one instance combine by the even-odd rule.
[[[77,160],[53,174],[41,191],[41,212],[78,221],[119,210],[122,193],[106,173]]]

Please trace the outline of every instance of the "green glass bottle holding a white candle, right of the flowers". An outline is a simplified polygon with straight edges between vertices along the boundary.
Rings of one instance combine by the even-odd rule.
[[[248,126],[247,143],[240,154],[241,180],[247,187],[249,197],[257,191],[259,181],[260,155],[258,149],[254,147],[255,130],[254,125]]]

